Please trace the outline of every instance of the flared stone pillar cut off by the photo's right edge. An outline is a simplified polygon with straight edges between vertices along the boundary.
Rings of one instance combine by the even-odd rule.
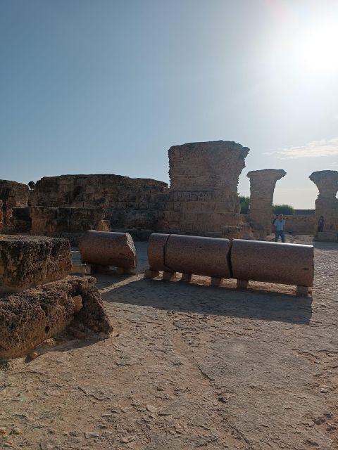
[[[320,170],[313,172],[309,178],[318,187],[318,198],[315,200],[315,234],[320,216],[325,219],[324,232],[338,233],[338,171]]]

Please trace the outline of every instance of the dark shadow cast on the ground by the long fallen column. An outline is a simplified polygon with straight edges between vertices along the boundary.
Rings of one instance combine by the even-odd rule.
[[[270,291],[186,284],[180,281],[136,279],[112,285],[102,293],[106,302],[153,307],[166,311],[235,316],[266,321],[307,324],[312,298]]]

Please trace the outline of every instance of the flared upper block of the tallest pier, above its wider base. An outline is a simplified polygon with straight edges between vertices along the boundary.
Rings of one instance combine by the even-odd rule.
[[[185,143],[170,147],[170,190],[237,193],[249,148],[232,141]]]

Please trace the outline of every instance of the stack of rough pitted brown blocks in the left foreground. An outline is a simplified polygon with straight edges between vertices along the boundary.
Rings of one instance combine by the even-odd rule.
[[[68,326],[111,332],[96,279],[68,276],[67,239],[0,236],[0,255],[0,359],[25,356]]]

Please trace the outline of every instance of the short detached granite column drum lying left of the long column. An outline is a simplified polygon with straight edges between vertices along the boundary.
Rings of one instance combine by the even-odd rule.
[[[136,249],[129,233],[89,230],[80,239],[79,248],[83,264],[125,269],[137,266]]]

